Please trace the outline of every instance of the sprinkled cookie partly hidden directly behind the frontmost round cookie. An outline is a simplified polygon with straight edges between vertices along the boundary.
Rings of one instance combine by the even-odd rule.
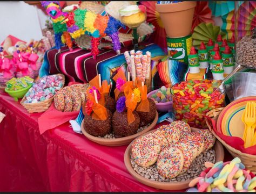
[[[185,143],[178,142],[174,144],[173,147],[180,149],[181,152],[183,153],[183,157],[184,157],[183,169],[179,173],[179,174],[183,174],[190,168],[190,165],[193,161],[193,153],[191,152],[192,150],[191,146]]]

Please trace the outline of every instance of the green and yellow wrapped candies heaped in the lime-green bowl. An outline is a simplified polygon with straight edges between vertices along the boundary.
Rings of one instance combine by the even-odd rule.
[[[21,78],[11,78],[8,82],[6,82],[6,88],[10,91],[17,91],[24,88],[27,88],[29,85],[33,83],[33,79],[25,76]]]

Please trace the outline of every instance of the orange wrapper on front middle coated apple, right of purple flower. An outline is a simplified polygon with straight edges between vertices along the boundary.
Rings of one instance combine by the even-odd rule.
[[[132,113],[136,106],[137,106],[137,98],[134,98],[134,95],[132,95],[132,88],[127,85],[124,89],[125,94],[125,105],[127,109],[127,120],[128,124],[130,125],[135,120],[134,114]]]

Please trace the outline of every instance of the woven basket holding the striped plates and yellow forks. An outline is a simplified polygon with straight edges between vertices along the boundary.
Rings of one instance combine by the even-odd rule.
[[[206,113],[206,116],[211,117],[213,120],[217,120],[220,112],[224,109],[224,107],[219,108],[219,109],[213,109],[209,112]],[[242,153],[241,151],[234,149],[230,145],[228,145],[224,140],[222,140],[213,130],[212,124],[208,119],[206,119],[206,124],[209,127],[210,131],[212,134],[225,146],[225,148],[228,150],[228,152],[233,156],[233,157],[239,157],[242,161],[242,163],[245,165],[245,167],[248,170],[251,170],[252,173],[256,173],[256,155],[251,155],[251,154],[245,154]]]

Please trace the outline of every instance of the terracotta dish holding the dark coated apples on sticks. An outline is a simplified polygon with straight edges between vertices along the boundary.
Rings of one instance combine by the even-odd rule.
[[[86,136],[86,138],[88,138],[89,140],[91,140],[93,142],[99,143],[100,145],[124,146],[124,145],[128,145],[132,140],[134,140],[138,136],[143,135],[144,133],[152,130],[154,128],[154,126],[156,126],[157,120],[158,120],[158,113],[156,112],[156,117],[154,118],[153,122],[151,123],[151,125],[149,127],[145,128],[143,131],[141,131],[139,133],[136,133],[136,134],[133,134],[130,136],[126,136],[124,138],[104,139],[104,138],[98,138],[97,136],[90,135],[84,129],[84,120],[82,121],[82,124],[81,124],[81,130],[82,130],[83,134]]]

